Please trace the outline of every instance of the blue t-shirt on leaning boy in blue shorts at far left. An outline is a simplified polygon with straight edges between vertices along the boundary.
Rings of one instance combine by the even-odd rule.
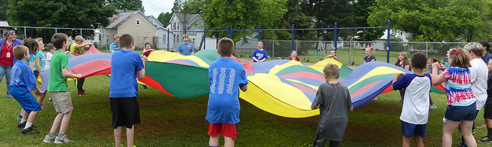
[[[32,73],[29,66],[21,60],[17,60],[14,66],[12,66],[10,86],[25,86],[28,90],[32,90],[37,86],[34,73]]]

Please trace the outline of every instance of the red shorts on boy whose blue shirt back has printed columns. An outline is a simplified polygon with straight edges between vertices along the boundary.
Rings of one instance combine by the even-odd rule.
[[[238,127],[237,124],[227,124],[227,123],[209,123],[209,135],[217,136],[224,135],[232,139],[238,138]]]

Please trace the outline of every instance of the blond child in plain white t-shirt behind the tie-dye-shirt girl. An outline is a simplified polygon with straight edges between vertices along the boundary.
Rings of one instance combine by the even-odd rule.
[[[470,65],[471,67],[468,68],[470,70],[470,77],[471,77],[471,91],[473,92],[473,95],[475,95],[476,103],[477,103],[477,112],[475,114],[478,114],[478,111],[482,109],[482,107],[485,104],[485,101],[487,100],[487,75],[488,75],[488,70],[487,70],[487,65],[485,65],[484,61],[482,60],[482,45],[477,42],[471,42],[463,47],[463,50],[465,50],[468,53],[468,56],[470,57]],[[475,134],[475,123],[473,123],[472,127],[472,134]],[[467,142],[462,142],[467,143]],[[466,144],[464,144],[466,145]]]

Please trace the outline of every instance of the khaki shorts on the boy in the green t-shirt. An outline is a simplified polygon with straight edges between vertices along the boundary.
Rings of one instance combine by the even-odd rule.
[[[67,113],[73,110],[72,98],[69,91],[50,92],[53,98],[53,106],[58,113]]]

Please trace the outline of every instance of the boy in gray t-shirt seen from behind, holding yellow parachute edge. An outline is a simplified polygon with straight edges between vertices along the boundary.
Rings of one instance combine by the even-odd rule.
[[[340,69],[333,63],[323,68],[325,84],[319,86],[311,109],[319,108],[318,132],[313,147],[324,147],[327,140],[330,147],[339,147],[348,123],[347,111],[352,111],[352,100],[347,86],[338,83]]]

